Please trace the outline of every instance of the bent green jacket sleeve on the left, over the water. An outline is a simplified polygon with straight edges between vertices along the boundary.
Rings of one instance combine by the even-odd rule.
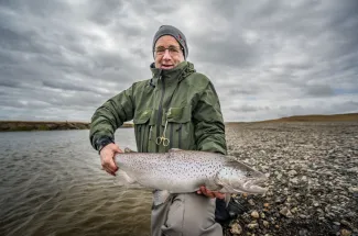
[[[109,137],[115,141],[116,130],[133,119],[133,87],[134,85],[109,99],[91,116],[89,141],[95,149],[98,149],[96,142],[99,138]]]

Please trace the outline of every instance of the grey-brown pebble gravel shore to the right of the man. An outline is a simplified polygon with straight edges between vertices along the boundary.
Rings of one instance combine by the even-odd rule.
[[[226,235],[358,236],[358,122],[229,124],[227,143],[269,190],[232,198]]]

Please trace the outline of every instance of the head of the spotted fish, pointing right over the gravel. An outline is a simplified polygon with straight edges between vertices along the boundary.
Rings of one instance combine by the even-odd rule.
[[[228,193],[263,194],[267,180],[264,173],[236,160],[228,161],[216,176],[216,183],[223,186],[220,191]]]

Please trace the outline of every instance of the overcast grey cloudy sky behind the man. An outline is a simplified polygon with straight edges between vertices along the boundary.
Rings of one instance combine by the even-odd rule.
[[[89,122],[186,36],[226,122],[358,112],[358,1],[0,0],[0,120]],[[195,2],[195,3],[194,3]]]

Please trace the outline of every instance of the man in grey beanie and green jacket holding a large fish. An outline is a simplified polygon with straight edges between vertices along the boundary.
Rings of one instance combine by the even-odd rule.
[[[113,142],[113,133],[131,120],[138,151],[181,148],[227,153],[217,93],[210,80],[186,61],[184,34],[162,25],[152,49],[152,78],[134,82],[109,99],[91,119],[91,145],[100,154],[102,168],[113,176],[118,169],[115,155],[122,153]],[[223,235],[215,222],[215,198],[223,199],[224,194],[202,187],[195,193],[172,194],[164,203],[153,204],[152,235]]]

